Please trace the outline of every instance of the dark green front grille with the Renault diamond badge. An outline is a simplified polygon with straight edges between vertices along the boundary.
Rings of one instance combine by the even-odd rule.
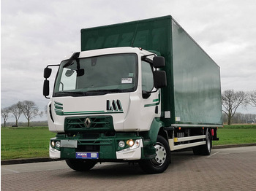
[[[114,130],[111,116],[67,117],[64,128],[66,132],[108,132]]]

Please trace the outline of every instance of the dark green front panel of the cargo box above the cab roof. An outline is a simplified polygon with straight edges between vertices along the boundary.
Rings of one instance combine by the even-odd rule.
[[[142,47],[165,54],[169,52],[170,16],[138,20],[81,30],[81,50],[109,47]]]

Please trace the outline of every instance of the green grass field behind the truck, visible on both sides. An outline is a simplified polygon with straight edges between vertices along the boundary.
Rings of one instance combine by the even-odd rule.
[[[213,145],[256,143],[256,125],[225,125]],[[49,140],[56,133],[48,127],[1,128],[1,160],[48,157]]]

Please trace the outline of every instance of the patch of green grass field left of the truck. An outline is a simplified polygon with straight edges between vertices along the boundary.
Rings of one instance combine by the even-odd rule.
[[[47,157],[49,140],[55,135],[48,127],[1,128],[1,160]]]

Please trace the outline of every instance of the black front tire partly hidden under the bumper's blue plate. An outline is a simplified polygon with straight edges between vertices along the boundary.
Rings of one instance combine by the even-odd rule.
[[[75,171],[89,171],[96,165],[96,162],[82,159],[67,159],[67,165]]]

